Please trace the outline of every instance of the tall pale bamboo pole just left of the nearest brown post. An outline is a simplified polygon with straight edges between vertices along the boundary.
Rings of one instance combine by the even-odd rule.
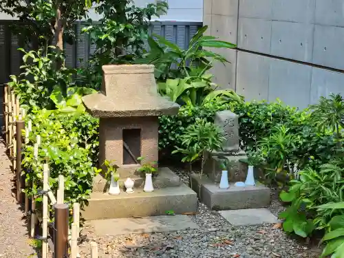
[[[47,164],[43,164],[43,191],[47,191],[49,189],[49,167]],[[48,213],[48,203],[47,203],[47,195],[43,194],[43,228],[42,228],[42,258],[47,258],[47,213]]]

